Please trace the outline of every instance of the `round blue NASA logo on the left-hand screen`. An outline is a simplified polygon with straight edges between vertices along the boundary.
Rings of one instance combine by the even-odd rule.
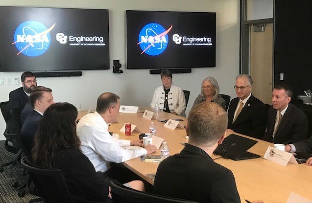
[[[44,24],[37,21],[26,21],[21,23],[15,30],[14,43],[20,53],[26,56],[40,56],[44,54],[51,43],[49,32],[55,23],[47,28]]]

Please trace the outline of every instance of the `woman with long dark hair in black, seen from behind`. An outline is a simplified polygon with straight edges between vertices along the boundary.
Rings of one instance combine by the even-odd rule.
[[[76,108],[69,103],[52,104],[44,113],[34,138],[33,162],[59,168],[74,202],[104,202],[109,195],[103,174],[80,151],[76,135]]]

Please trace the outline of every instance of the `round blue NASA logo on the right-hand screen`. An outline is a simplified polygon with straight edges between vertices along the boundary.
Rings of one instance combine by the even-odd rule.
[[[165,28],[158,23],[146,24],[140,31],[139,43],[142,52],[151,56],[156,56],[165,51],[168,45],[168,32],[172,25],[165,30]]]

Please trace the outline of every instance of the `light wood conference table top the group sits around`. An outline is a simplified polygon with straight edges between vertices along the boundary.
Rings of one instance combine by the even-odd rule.
[[[113,123],[109,127],[109,131],[118,133],[121,139],[137,140],[139,134],[132,132],[131,136],[125,136],[120,132],[120,128],[124,123],[132,123],[139,127],[144,133],[148,132],[150,120],[143,118],[144,110],[152,111],[150,108],[140,108],[140,113],[119,113],[118,123]],[[83,112],[81,112],[83,114]],[[84,113],[85,114],[85,113]],[[182,124],[187,123],[187,118],[177,116],[171,113],[160,113],[159,119],[183,119]],[[186,139],[186,131],[184,129],[170,130],[164,127],[163,122],[152,120],[156,126],[156,136],[164,138],[170,148],[170,155],[180,153],[183,145],[180,143],[188,142]],[[230,135],[231,132],[227,132]],[[238,134],[240,135],[240,134]],[[245,136],[245,135],[242,135]],[[246,136],[248,137],[248,136]],[[249,137],[252,138],[252,137]],[[241,203],[247,200],[264,200],[266,203],[286,203],[290,192],[294,192],[306,199],[312,200],[312,167],[304,164],[288,164],[282,166],[263,158],[268,146],[272,143],[252,138],[259,142],[248,151],[261,155],[261,158],[234,161],[231,159],[218,158],[213,155],[212,158],[218,158],[215,161],[228,169],[230,169],[235,177],[237,188],[240,194]],[[160,154],[160,150],[154,153]],[[153,184],[153,180],[146,177],[146,174],[156,173],[158,162],[145,162],[141,158],[135,158],[123,163],[134,173],[138,174],[144,180]],[[174,180],[172,180],[174,181]],[[226,190],[226,185],[224,185]]]

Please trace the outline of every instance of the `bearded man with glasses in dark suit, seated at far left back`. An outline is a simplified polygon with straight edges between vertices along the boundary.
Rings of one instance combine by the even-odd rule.
[[[13,90],[9,94],[9,106],[10,108],[23,107],[26,103],[30,103],[29,95],[31,90],[37,87],[36,76],[29,71],[26,71],[21,76],[22,87]]]

